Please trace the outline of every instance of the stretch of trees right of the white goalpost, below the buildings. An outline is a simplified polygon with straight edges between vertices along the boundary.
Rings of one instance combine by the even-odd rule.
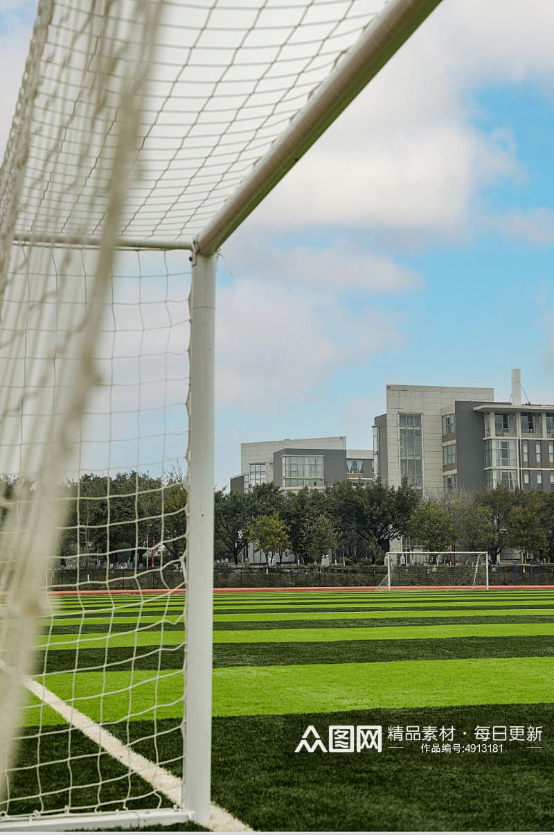
[[[216,557],[237,562],[249,543],[270,562],[292,551],[318,562],[331,551],[340,561],[382,562],[390,539],[409,537],[430,551],[505,547],[554,558],[554,493],[482,493],[421,498],[414,488],[337,482],[325,491],[284,493],[263,484],[250,493],[215,494]]]

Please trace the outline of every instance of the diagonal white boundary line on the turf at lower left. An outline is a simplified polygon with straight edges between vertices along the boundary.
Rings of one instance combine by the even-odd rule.
[[[0,667],[8,674],[12,673],[12,669],[3,660],[0,660]],[[30,676],[22,676],[21,681],[23,686],[30,693],[33,693],[33,696],[37,696],[40,701],[43,701],[45,705],[62,716],[68,724],[73,725],[84,736],[103,748],[110,757],[142,777],[156,792],[164,794],[174,806],[182,807],[183,786],[179,777],[175,777],[164,767],[157,766],[154,762],[150,762],[146,757],[143,757],[142,754],[133,751],[132,748],[118,740],[117,736],[113,736],[112,733],[93,721],[90,716],[78,711],[76,707],[68,705],[67,701],[63,701],[53,691],[48,690],[47,686],[39,684]],[[210,806],[209,827],[214,832],[253,832],[246,824],[214,804]]]

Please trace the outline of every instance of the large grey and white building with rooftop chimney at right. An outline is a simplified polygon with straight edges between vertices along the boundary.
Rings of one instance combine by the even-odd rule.
[[[511,378],[509,401],[492,388],[387,386],[375,475],[436,495],[498,484],[554,490],[554,405],[521,403],[518,368]]]

